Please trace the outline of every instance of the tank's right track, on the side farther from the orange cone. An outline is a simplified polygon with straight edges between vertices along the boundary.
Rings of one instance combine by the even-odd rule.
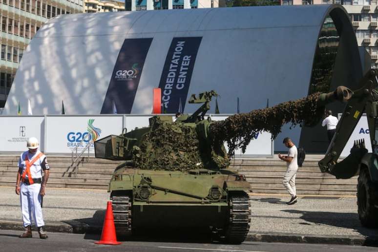
[[[250,231],[250,203],[248,194],[231,195],[229,224],[225,230],[225,240],[231,244],[240,244]]]

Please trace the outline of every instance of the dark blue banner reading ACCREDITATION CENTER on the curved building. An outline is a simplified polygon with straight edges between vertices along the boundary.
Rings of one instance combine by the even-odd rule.
[[[163,113],[177,113],[180,102],[184,111],[201,40],[202,37],[172,39],[159,83]]]

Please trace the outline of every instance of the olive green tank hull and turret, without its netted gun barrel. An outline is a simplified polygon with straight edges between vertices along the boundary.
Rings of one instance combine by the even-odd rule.
[[[203,103],[192,115],[154,116],[149,126],[95,142],[98,158],[126,160],[109,183],[117,234],[143,228],[206,228],[238,244],[250,229],[250,185],[230,168],[224,146],[209,140],[214,91],[189,103]]]

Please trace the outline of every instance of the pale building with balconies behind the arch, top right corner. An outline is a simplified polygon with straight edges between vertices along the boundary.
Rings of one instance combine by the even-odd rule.
[[[358,46],[371,56],[371,67],[378,68],[378,0],[283,0],[282,5],[342,4],[356,32]]]

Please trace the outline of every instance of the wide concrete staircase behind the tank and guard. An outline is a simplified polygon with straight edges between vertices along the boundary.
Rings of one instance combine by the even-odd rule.
[[[0,155],[0,186],[13,187],[16,182],[18,158],[15,155]],[[71,157],[47,157],[51,167],[48,187],[107,189],[114,168],[122,162],[105,159],[86,158],[79,163],[77,177],[71,167]],[[347,180],[337,180],[328,173],[321,173],[317,167],[319,158],[306,158],[296,177],[297,194],[315,195],[356,195],[357,176]],[[286,171],[284,162],[277,158],[235,159],[231,165],[246,175],[251,189],[256,193],[287,193],[282,185]]]

